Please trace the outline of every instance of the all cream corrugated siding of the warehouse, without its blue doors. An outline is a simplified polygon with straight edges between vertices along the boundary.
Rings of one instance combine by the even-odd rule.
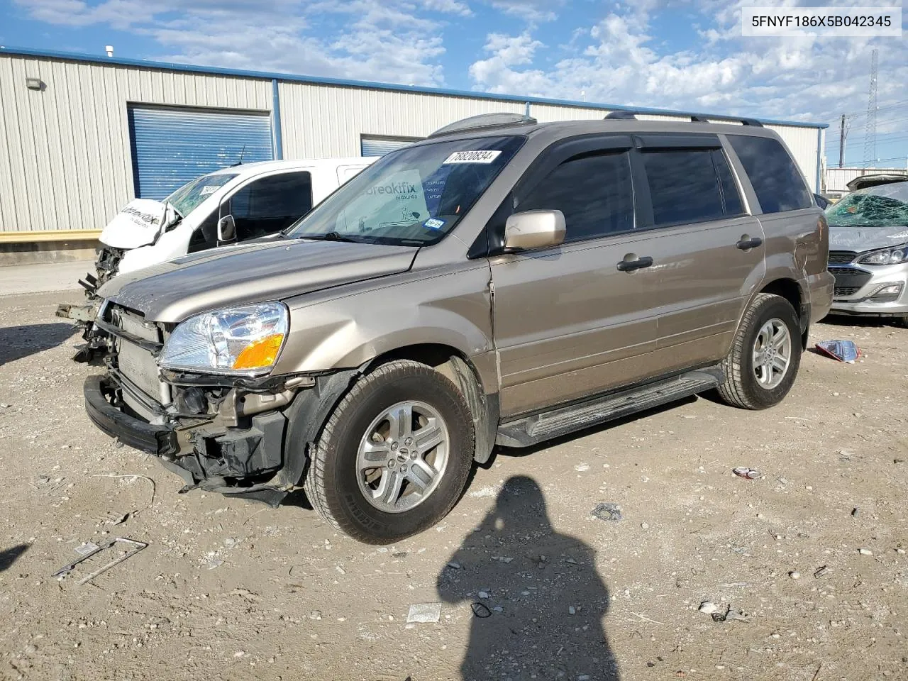
[[[44,90],[27,89],[26,77]],[[292,81],[279,93],[284,158],[356,156],[364,134],[424,137],[467,116],[525,110],[519,101]],[[0,232],[100,229],[133,198],[128,103],[271,112],[271,94],[264,77],[0,54]],[[531,104],[530,114],[549,122],[607,111]],[[770,127],[813,187],[817,129]]]

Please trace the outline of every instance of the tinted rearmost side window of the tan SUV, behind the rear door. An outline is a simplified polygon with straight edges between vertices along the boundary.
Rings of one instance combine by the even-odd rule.
[[[730,134],[763,212],[796,211],[813,205],[810,190],[795,162],[778,140]]]

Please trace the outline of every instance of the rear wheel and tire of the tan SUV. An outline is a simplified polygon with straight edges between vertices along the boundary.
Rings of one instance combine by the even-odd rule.
[[[795,308],[781,296],[758,293],[722,361],[725,382],[716,392],[733,407],[774,407],[791,390],[800,364],[801,328]]]

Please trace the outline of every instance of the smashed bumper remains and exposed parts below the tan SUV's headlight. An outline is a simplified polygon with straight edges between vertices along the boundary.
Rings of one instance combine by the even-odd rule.
[[[186,410],[193,399],[196,406],[207,401],[200,398],[204,390],[186,384],[206,378],[172,376],[179,411],[155,405],[157,413],[140,415],[130,406],[134,386],[112,370],[85,380],[85,410],[98,429],[183,478],[181,491],[200,488],[277,506],[300,483],[321,424],[357,372],[294,377],[257,392],[222,386],[217,411],[202,414]]]

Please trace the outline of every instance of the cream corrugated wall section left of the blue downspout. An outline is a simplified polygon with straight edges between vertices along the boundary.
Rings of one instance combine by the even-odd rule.
[[[3,55],[0,231],[97,230],[133,198],[127,102],[270,112],[271,83]]]

